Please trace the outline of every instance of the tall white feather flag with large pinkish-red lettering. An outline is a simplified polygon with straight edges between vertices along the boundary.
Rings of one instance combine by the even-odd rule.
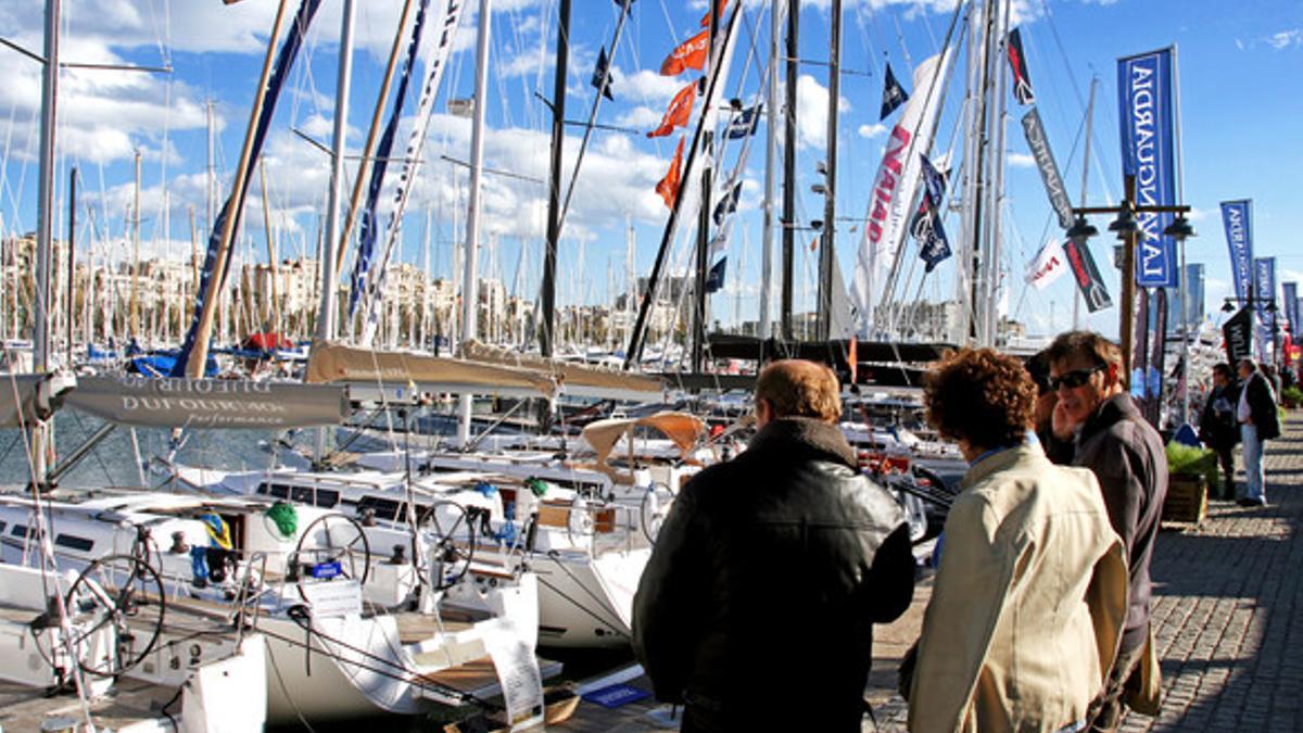
[[[861,331],[869,323],[873,307],[886,297],[887,275],[913,214],[909,206],[919,188],[920,155],[932,147],[933,120],[941,104],[939,81],[946,74],[949,59],[949,53],[938,53],[915,68],[913,95],[902,106],[903,112],[887,136],[887,149],[873,179],[851,287],[851,305]]]

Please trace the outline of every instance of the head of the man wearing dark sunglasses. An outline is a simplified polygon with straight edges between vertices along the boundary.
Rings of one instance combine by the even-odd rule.
[[[1074,426],[1122,391],[1122,350],[1095,331],[1067,331],[1050,344],[1050,386]]]

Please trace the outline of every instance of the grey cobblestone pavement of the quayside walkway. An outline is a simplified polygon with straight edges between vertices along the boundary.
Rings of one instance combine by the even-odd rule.
[[[1282,426],[1267,443],[1268,506],[1213,501],[1201,524],[1160,535],[1151,570],[1162,712],[1128,715],[1126,733],[1303,730],[1303,415]],[[1242,466],[1238,477],[1243,485]],[[877,724],[865,721],[866,732],[904,730],[895,668],[929,590],[876,636]]]

